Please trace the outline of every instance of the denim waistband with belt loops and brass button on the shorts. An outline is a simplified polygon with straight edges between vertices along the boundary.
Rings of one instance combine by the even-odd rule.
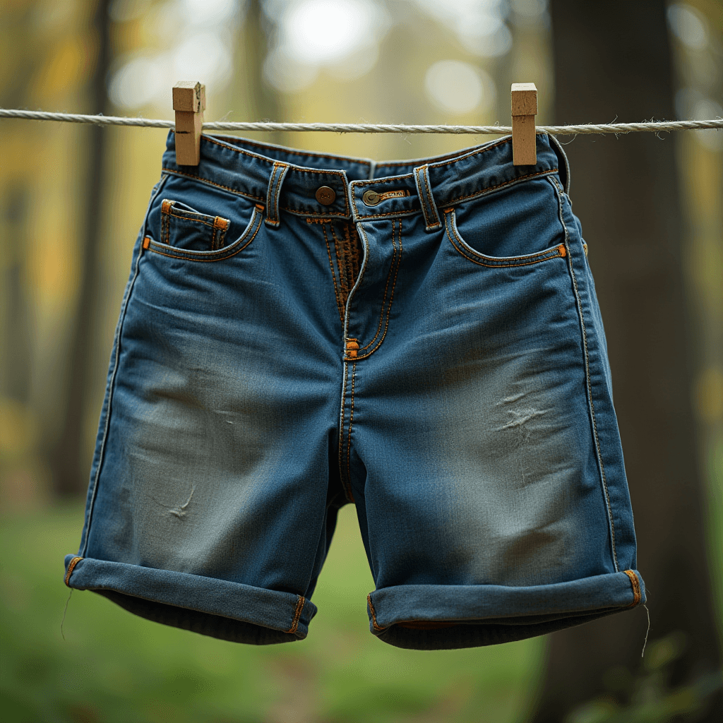
[[[559,174],[568,192],[570,169],[560,143],[536,136],[535,166],[513,166],[512,137],[435,158],[376,163],[295,150],[238,137],[201,136],[198,166],[176,164],[175,134],[168,133],[163,172],[184,176],[245,196],[278,211],[312,218],[354,221],[424,213],[437,226],[437,209],[535,176]]]

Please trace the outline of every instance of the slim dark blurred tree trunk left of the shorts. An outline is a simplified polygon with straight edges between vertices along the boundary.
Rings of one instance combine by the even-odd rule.
[[[111,0],[98,0],[93,15],[91,46],[95,46],[95,63],[87,90],[88,113],[107,111],[106,79],[111,62],[108,9]],[[100,264],[100,218],[106,174],[107,131],[100,126],[87,126],[85,149],[85,213],[80,235],[79,294],[77,311],[69,329],[69,380],[67,395],[59,395],[64,403],[62,427],[48,451],[52,483],[57,495],[79,495],[87,487],[90,460],[85,455],[83,422],[89,400],[93,364],[93,330],[95,313],[102,288]],[[81,156],[82,157],[82,156]]]

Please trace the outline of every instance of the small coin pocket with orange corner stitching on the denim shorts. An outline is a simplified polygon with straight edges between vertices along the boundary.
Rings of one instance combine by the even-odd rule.
[[[231,221],[200,213],[180,201],[161,202],[161,243],[188,251],[218,251]]]

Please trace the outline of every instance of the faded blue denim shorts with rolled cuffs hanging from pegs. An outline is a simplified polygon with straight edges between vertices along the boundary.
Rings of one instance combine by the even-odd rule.
[[[552,137],[374,163],[168,136],[65,582],[242,643],[307,636],[342,505],[403,648],[645,602],[587,246]],[[364,601],[360,600],[361,607]]]

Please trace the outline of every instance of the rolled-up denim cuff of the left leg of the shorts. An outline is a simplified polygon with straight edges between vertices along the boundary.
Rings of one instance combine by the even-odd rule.
[[[66,555],[65,583],[92,590],[140,617],[234,643],[303,640],[315,604],[266,590],[171,570]]]

